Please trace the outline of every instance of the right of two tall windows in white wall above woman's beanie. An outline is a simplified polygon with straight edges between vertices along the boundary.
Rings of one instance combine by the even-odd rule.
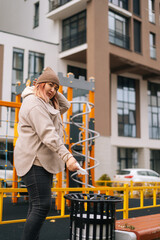
[[[28,78],[41,74],[44,68],[44,54],[29,52]]]

